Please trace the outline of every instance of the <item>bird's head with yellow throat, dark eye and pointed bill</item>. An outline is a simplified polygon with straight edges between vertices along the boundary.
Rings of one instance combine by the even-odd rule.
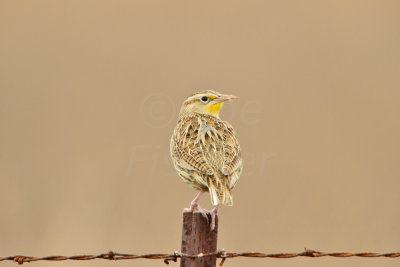
[[[218,117],[225,101],[239,98],[233,95],[223,95],[215,91],[207,90],[188,97],[182,104],[180,116],[193,112],[213,115]]]

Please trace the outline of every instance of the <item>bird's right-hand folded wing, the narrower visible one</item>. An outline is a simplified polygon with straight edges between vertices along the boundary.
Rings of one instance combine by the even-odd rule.
[[[230,125],[226,121],[222,123],[224,124],[223,128],[224,162],[222,166],[222,173],[225,175],[232,175],[235,171],[237,171],[242,167],[242,155],[240,152],[239,141],[232,125]],[[232,179],[239,179],[239,175],[232,175]],[[236,181],[231,181],[231,184],[232,183],[235,184]]]

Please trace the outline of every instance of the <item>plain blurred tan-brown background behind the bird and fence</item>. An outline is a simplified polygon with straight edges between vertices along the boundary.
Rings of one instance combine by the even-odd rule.
[[[245,169],[219,248],[398,251],[399,28],[397,0],[1,1],[1,256],[179,250],[196,192],[169,139],[201,89],[241,97],[221,113]]]

